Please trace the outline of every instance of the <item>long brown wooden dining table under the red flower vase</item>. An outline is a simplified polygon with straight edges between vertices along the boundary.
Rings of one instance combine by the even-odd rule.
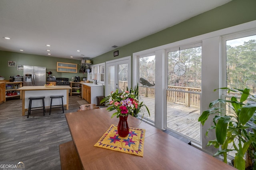
[[[220,170],[232,166],[129,115],[129,127],[146,130],[144,154],[118,152],[94,146],[119,119],[106,108],[66,113],[66,121],[83,169]]]

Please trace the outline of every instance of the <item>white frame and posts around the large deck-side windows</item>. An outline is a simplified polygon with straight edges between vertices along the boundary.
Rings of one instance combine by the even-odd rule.
[[[164,104],[164,102],[166,101],[164,99],[164,89],[166,88],[165,86],[167,84],[167,80],[165,79],[167,72],[167,68],[165,67],[165,63],[167,62],[165,56],[167,49],[179,47],[184,44],[202,42],[202,103],[200,106],[202,113],[202,111],[209,109],[210,102],[220,97],[220,93],[213,92],[213,89],[222,87],[222,67],[225,67],[226,69],[226,65],[224,64],[224,66],[222,63],[222,37],[226,35],[238,34],[239,32],[248,32],[252,30],[256,30],[256,20],[133,53],[133,83],[137,82],[138,80],[137,69],[139,56],[148,53],[156,54],[156,67],[158,67],[158,69],[156,69],[156,75],[160,76],[156,76],[156,82],[158,82],[156,83],[156,94],[159,95],[156,96],[155,99],[155,110],[162,114],[158,114],[158,116],[155,117],[154,126],[164,130],[164,113],[166,113]],[[205,150],[206,152],[214,154],[216,152],[215,148],[206,147],[208,140],[214,138],[215,135],[214,132],[211,132],[208,133],[208,137],[205,136],[205,133],[208,130],[208,128],[212,126],[211,123],[212,121],[207,121],[203,127],[201,125],[201,143],[192,143],[192,145],[197,146],[198,148],[202,148],[202,150]]]

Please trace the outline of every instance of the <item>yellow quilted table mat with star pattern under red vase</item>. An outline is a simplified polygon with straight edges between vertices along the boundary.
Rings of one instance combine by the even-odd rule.
[[[94,146],[143,156],[145,132],[145,129],[130,127],[128,136],[123,138],[118,135],[117,126],[111,125]]]

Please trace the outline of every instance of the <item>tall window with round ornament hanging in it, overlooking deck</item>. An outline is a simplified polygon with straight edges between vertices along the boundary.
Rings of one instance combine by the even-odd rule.
[[[166,128],[200,142],[202,43],[169,50]]]

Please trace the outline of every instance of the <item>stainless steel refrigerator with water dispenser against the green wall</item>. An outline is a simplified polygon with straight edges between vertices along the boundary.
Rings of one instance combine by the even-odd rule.
[[[36,86],[46,84],[46,67],[24,65],[23,86]]]

